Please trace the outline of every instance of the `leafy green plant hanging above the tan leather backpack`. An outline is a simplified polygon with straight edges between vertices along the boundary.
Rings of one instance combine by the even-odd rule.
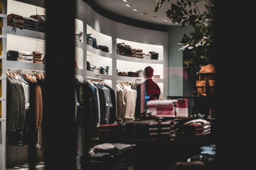
[[[157,11],[165,0],[157,0]],[[198,11],[196,3],[203,3],[202,0],[176,0],[176,4],[171,4],[171,9],[166,11],[167,17],[173,23],[181,24],[181,28],[185,25],[192,25],[194,31],[189,36],[184,33],[179,46],[182,48],[184,64],[186,71],[194,68],[215,63],[214,56],[214,6],[206,5],[206,11],[202,14]],[[168,0],[170,2],[170,0]],[[195,7],[192,7],[192,3]],[[207,20],[208,19],[208,20]],[[200,44],[200,45],[198,45]]]

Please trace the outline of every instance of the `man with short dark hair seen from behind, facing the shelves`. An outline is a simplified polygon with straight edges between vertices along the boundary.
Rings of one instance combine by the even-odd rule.
[[[145,81],[140,83],[137,90],[135,117],[138,118],[141,113],[147,109],[147,102],[154,99],[159,99],[160,88],[151,78],[154,75],[154,69],[150,66],[146,67],[143,72]]]

